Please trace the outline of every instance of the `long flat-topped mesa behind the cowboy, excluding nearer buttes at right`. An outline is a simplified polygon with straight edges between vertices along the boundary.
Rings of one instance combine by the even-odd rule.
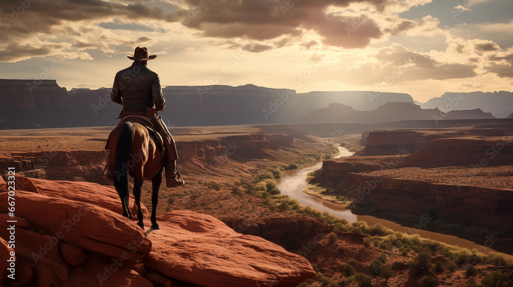
[[[0,79],[0,129],[115,126],[121,105],[110,101],[110,88],[66,91],[55,80]],[[169,86],[166,108],[159,112],[168,126],[220,126],[295,122],[333,101],[372,110],[388,101],[412,101],[407,94],[383,93],[369,103],[366,92],[311,92],[255,85],[239,87]]]

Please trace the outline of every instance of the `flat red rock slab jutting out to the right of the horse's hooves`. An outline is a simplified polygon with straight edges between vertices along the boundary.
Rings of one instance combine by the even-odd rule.
[[[153,250],[144,263],[171,278],[201,286],[260,287],[295,286],[314,277],[303,257],[237,233],[211,216],[173,211],[159,219],[161,230],[149,233]]]

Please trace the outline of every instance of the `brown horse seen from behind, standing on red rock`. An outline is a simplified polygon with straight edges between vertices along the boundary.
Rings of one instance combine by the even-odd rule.
[[[141,187],[143,180],[151,179],[151,228],[159,229],[156,207],[162,182],[162,153],[148,130],[137,122],[127,121],[117,126],[110,135],[110,159],[114,162],[114,187],[120,195],[123,216],[133,218],[129,208],[130,191],[128,176],[133,178],[133,196],[137,206],[137,219],[144,230],[141,210]]]

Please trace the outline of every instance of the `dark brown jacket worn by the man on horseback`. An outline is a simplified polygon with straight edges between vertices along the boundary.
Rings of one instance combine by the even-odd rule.
[[[162,111],[166,106],[159,75],[137,61],[116,73],[110,99],[127,113],[141,115],[146,115],[146,108]]]

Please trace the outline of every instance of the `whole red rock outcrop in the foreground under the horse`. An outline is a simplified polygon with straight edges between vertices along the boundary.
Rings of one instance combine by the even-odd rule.
[[[3,268],[6,286],[295,286],[316,276],[303,257],[209,215],[165,213],[160,230],[145,232],[120,215],[112,188],[29,178],[16,186],[12,218],[0,192],[0,219],[16,220],[16,284]],[[8,235],[0,231],[2,258]]]

